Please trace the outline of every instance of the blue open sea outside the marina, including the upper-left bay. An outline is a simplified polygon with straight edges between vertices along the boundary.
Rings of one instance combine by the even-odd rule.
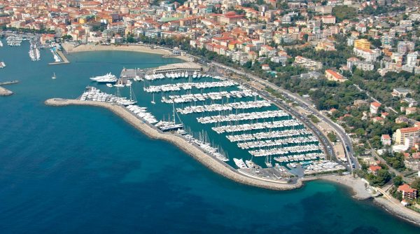
[[[27,48],[0,48],[0,81],[20,80],[0,97],[1,233],[419,233],[335,184],[236,184],[109,111],[43,104],[77,97],[92,75],[176,60],[98,52],[48,66],[48,50],[31,62]]]

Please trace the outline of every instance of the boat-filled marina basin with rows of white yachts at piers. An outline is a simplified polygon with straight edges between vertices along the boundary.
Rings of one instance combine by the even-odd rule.
[[[202,71],[151,73],[151,69],[123,68],[119,78],[107,73],[92,76],[90,81],[92,85],[106,83],[109,91],[91,88],[80,100],[125,106],[152,128],[179,135],[209,156],[231,167],[246,169],[242,174],[274,180],[281,177],[285,182],[290,175],[277,173],[279,178],[267,177],[255,171],[279,170],[289,162],[325,158],[317,137],[303,123],[258,92],[221,76]],[[141,104],[130,103],[132,86],[136,95],[142,97]],[[127,95],[125,87],[130,88],[130,98],[121,97],[123,93]],[[116,94],[111,95],[112,92]],[[237,153],[244,163],[238,158],[230,160],[228,155]],[[273,166],[272,160],[279,165]]]

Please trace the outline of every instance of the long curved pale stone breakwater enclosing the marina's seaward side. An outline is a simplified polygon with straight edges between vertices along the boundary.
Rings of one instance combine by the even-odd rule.
[[[210,170],[221,174],[223,177],[228,179],[232,179],[233,181],[237,181],[241,184],[246,184],[250,186],[257,186],[260,188],[267,188],[272,190],[290,190],[293,188],[300,188],[302,186],[302,181],[298,180],[296,184],[281,184],[281,182],[276,181],[263,181],[260,179],[255,179],[252,177],[248,177],[245,174],[240,174],[237,170],[234,170],[229,165],[216,160],[216,158],[212,158],[207,153],[204,153],[201,149],[193,144],[190,144],[182,137],[177,135],[172,135],[170,133],[162,133],[156,130],[155,128],[151,127],[147,123],[144,123],[139,118],[134,116],[130,111],[125,109],[123,106],[119,106],[116,104],[111,104],[107,102],[94,102],[94,101],[80,101],[76,99],[48,99],[45,101],[45,104],[48,106],[69,106],[69,105],[82,105],[82,106],[99,106],[106,109],[109,109],[117,116],[123,118],[127,123],[130,123],[135,128],[143,132],[148,137],[152,139],[161,139],[167,142],[174,144],[175,146],[179,147],[182,151],[188,153],[190,156],[193,156],[196,160],[200,163],[208,167]]]

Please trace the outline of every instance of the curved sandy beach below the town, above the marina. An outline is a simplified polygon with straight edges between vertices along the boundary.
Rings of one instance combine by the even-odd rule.
[[[143,45],[93,45],[93,44],[83,44],[79,46],[73,46],[71,43],[62,43],[62,48],[66,53],[78,53],[78,52],[90,52],[90,51],[130,51],[138,53],[150,53],[155,55],[162,55],[162,57],[170,56],[183,60],[185,62],[191,62],[190,57],[183,55],[172,56],[171,51],[165,50],[162,48],[151,48],[150,46]],[[169,58],[169,57],[168,57]]]

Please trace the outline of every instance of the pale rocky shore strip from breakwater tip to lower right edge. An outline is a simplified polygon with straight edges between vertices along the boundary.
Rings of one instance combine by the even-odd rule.
[[[260,180],[255,179],[254,177],[248,177],[246,174],[240,173],[239,171],[235,170],[234,168],[230,167],[216,158],[212,158],[207,153],[202,151],[201,149],[193,146],[182,137],[177,135],[172,135],[169,133],[159,132],[155,128],[151,127],[141,119],[134,116],[130,111],[125,109],[123,106],[119,106],[116,104],[111,104],[107,102],[94,102],[94,101],[80,101],[76,99],[60,99],[60,98],[52,98],[47,99],[44,102],[48,106],[97,106],[108,109],[109,111],[116,114],[120,118],[134,128],[139,130],[140,132],[144,133],[147,137],[151,139],[160,139],[174,146],[178,147],[199,163],[202,163],[205,167],[209,170],[216,172],[217,174],[231,179],[232,181],[238,182],[240,184],[245,184],[248,186],[256,186],[258,188],[266,188],[274,191],[287,191],[293,190],[296,188],[301,188],[306,181],[314,181],[316,179],[321,179],[324,181],[331,182],[333,184],[339,184],[349,188],[351,190],[351,197],[356,200],[372,200],[374,205],[385,209],[386,212],[389,214],[398,217],[399,219],[403,219],[409,223],[412,223],[416,226],[420,226],[420,214],[408,209],[406,207],[402,207],[398,203],[395,203],[391,200],[388,200],[383,197],[374,198],[372,194],[366,190],[367,186],[365,186],[365,181],[361,179],[354,178],[351,174],[339,176],[337,174],[326,174],[326,175],[318,175],[314,177],[304,177],[302,179],[297,179],[295,184],[282,184],[281,182],[276,183],[275,181],[267,181],[267,180]],[[193,147],[192,147],[193,146]]]

